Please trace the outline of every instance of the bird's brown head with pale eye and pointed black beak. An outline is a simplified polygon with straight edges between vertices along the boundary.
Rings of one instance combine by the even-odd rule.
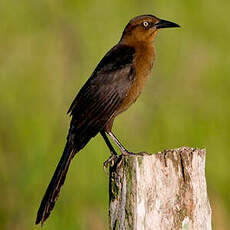
[[[159,19],[153,15],[140,15],[129,21],[122,34],[125,43],[152,43],[161,28],[180,27],[174,22]]]

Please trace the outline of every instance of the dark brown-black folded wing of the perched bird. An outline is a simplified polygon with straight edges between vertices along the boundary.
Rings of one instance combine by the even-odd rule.
[[[112,48],[74,99],[68,140],[76,151],[105,127],[126,97],[135,77],[134,54],[130,46]]]

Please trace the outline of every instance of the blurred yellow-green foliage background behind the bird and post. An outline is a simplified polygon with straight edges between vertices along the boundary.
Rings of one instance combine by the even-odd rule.
[[[207,148],[213,226],[227,229],[229,9],[226,0],[1,1],[0,229],[39,229],[35,216],[65,144],[68,106],[129,19],[144,13],[182,28],[160,31],[152,78],[114,132],[132,151]],[[108,156],[100,136],[76,156],[44,229],[107,229]]]

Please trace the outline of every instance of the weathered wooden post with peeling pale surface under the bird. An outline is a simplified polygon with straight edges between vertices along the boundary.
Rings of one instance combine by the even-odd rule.
[[[205,149],[123,156],[110,167],[110,229],[210,230]]]

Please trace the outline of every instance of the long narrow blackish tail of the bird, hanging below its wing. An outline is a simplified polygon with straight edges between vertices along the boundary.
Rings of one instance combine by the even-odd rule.
[[[76,151],[72,145],[67,141],[62,157],[57,165],[54,175],[50,181],[50,184],[46,190],[46,193],[41,201],[36,224],[41,222],[41,225],[49,217],[50,212],[54,208],[55,202],[58,198],[61,186],[64,184],[66,173],[69,169],[70,162],[74,157]]]

